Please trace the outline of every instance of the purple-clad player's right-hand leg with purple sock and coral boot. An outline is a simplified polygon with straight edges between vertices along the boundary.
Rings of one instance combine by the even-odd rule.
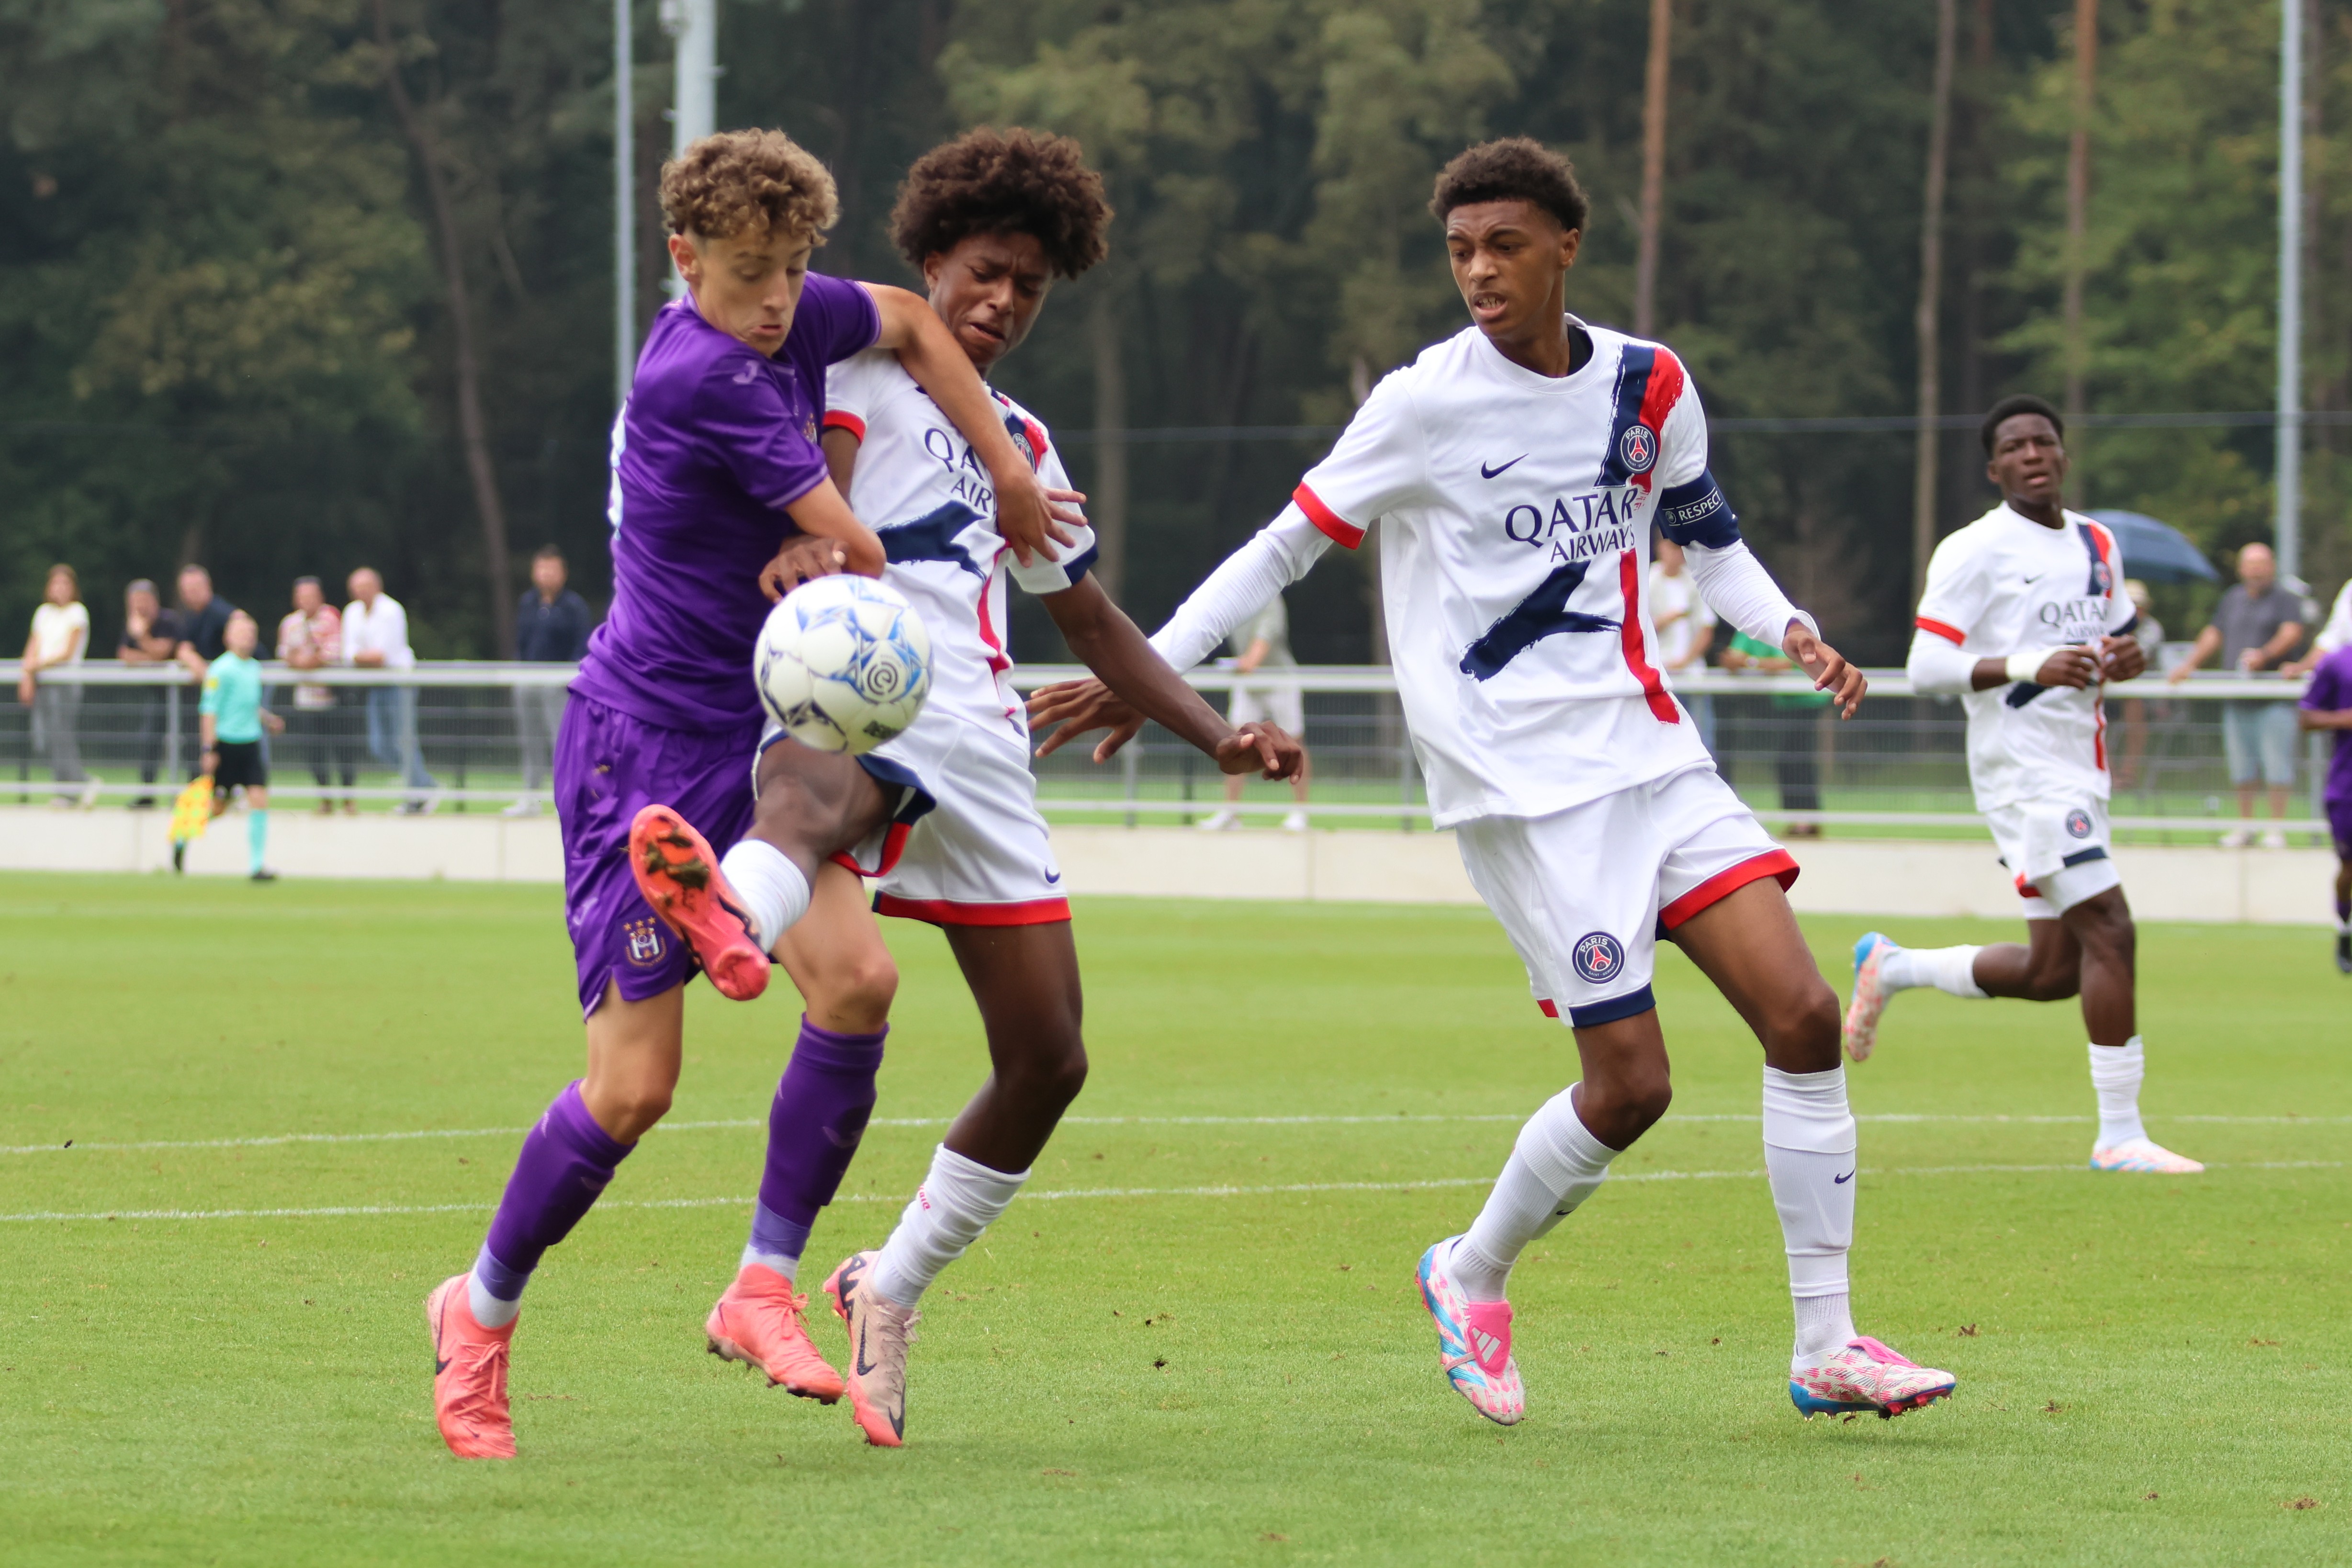
[[[898,966],[856,872],[821,865],[809,917],[776,943],[807,1001],[793,1060],[767,1112],[767,1159],[736,1279],[710,1309],[713,1354],[760,1366],[771,1385],[833,1403],[842,1375],[809,1342],[797,1291],[816,1215],[840,1192],[875,1105]]]

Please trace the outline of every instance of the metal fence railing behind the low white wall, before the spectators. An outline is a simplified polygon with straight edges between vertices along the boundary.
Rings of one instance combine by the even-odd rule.
[[[1028,665],[1023,689],[1084,675]],[[270,741],[270,788],[287,802],[327,809],[510,809],[548,804],[546,748],[569,665],[437,661],[414,670],[287,670],[263,665],[270,708],[289,731]],[[1308,813],[1319,825],[1425,827],[1428,799],[1397,712],[1395,682],[1378,665],[1303,665],[1190,675],[1211,701],[1237,684],[1296,686],[1315,757]],[[1969,797],[1966,726],[1955,698],[1912,696],[1900,670],[1872,670],[1860,717],[1837,722],[1804,708],[1795,675],[1705,670],[1675,677],[1717,764],[1750,809],[1773,823],[1820,823],[1870,835],[1980,835]],[[195,679],[179,665],[89,661],[49,670],[45,686],[78,701],[42,715],[71,724],[87,780],[52,778],[56,724],[0,703],[0,799],[122,804],[167,799],[198,759]],[[313,689],[299,696],[296,686]],[[2114,827],[2133,837],[2209,839],[2234,825],[2223,710],[2227,703],[2293,703],[2300,682],[2277,675],[2197,675],[2180,686],[2138,679],[2107,691],[2107,755]],[[322,701],[332,698],[332,701]],[[414,724],[414,759],[407,745]],[[2321,736],[2296,743],[2286,832],[2324,832],[2317,792]],[[66,769],[71,771],[71,769]],[[1112,764],[1089,745],[1037,764],[1040,795],[1058,820],[1192,820],[1223,804],[1207,757],[1148,726]],[[1249,818],[1291,811],[1289,790],[1251,780]],[[2263,823],[2270,825],[2267,820]]]

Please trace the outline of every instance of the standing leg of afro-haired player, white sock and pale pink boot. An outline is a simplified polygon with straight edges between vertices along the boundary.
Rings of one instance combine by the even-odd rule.
[[[877,1253],[826,1281],[849,1326],[849,1401],[870,1443],[906,1441],[906,1352],[917,1302],[1011,1206],[1087,1084],[1084,997],[1070,922],[946,926],[988,1032],[988,1081],[948,1128]]]

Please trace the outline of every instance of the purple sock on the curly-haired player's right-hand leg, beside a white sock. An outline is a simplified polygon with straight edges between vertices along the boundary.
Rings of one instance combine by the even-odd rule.
[[[880,1034],[835,1034],[800,1020],[800,1041],[767,1110],[767,1171],[750,1222],[753,1251],[800,1258],[816,1211],[842,1190],[866,1135],[887,1037],[887,1025]]]

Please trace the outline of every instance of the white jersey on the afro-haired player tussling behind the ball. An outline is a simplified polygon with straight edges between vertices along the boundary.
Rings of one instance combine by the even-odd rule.
[[[1070,489],[1044,425],[1011,397],[1004,428],[1047,489]],[[882,581],[903,592],[931,630],[931,696],[941,708],[983,724],[1025,724],[1004,649],[1004,578],[1030,592],[1061,592],[1094,564],[1094,529],[1058,562],[1037,555],[1023,567],[997,534],[997,494],[985,463],[887,348],[870,348],[826,374],[826,428],[858,437],[849,510],[882,536]]]

